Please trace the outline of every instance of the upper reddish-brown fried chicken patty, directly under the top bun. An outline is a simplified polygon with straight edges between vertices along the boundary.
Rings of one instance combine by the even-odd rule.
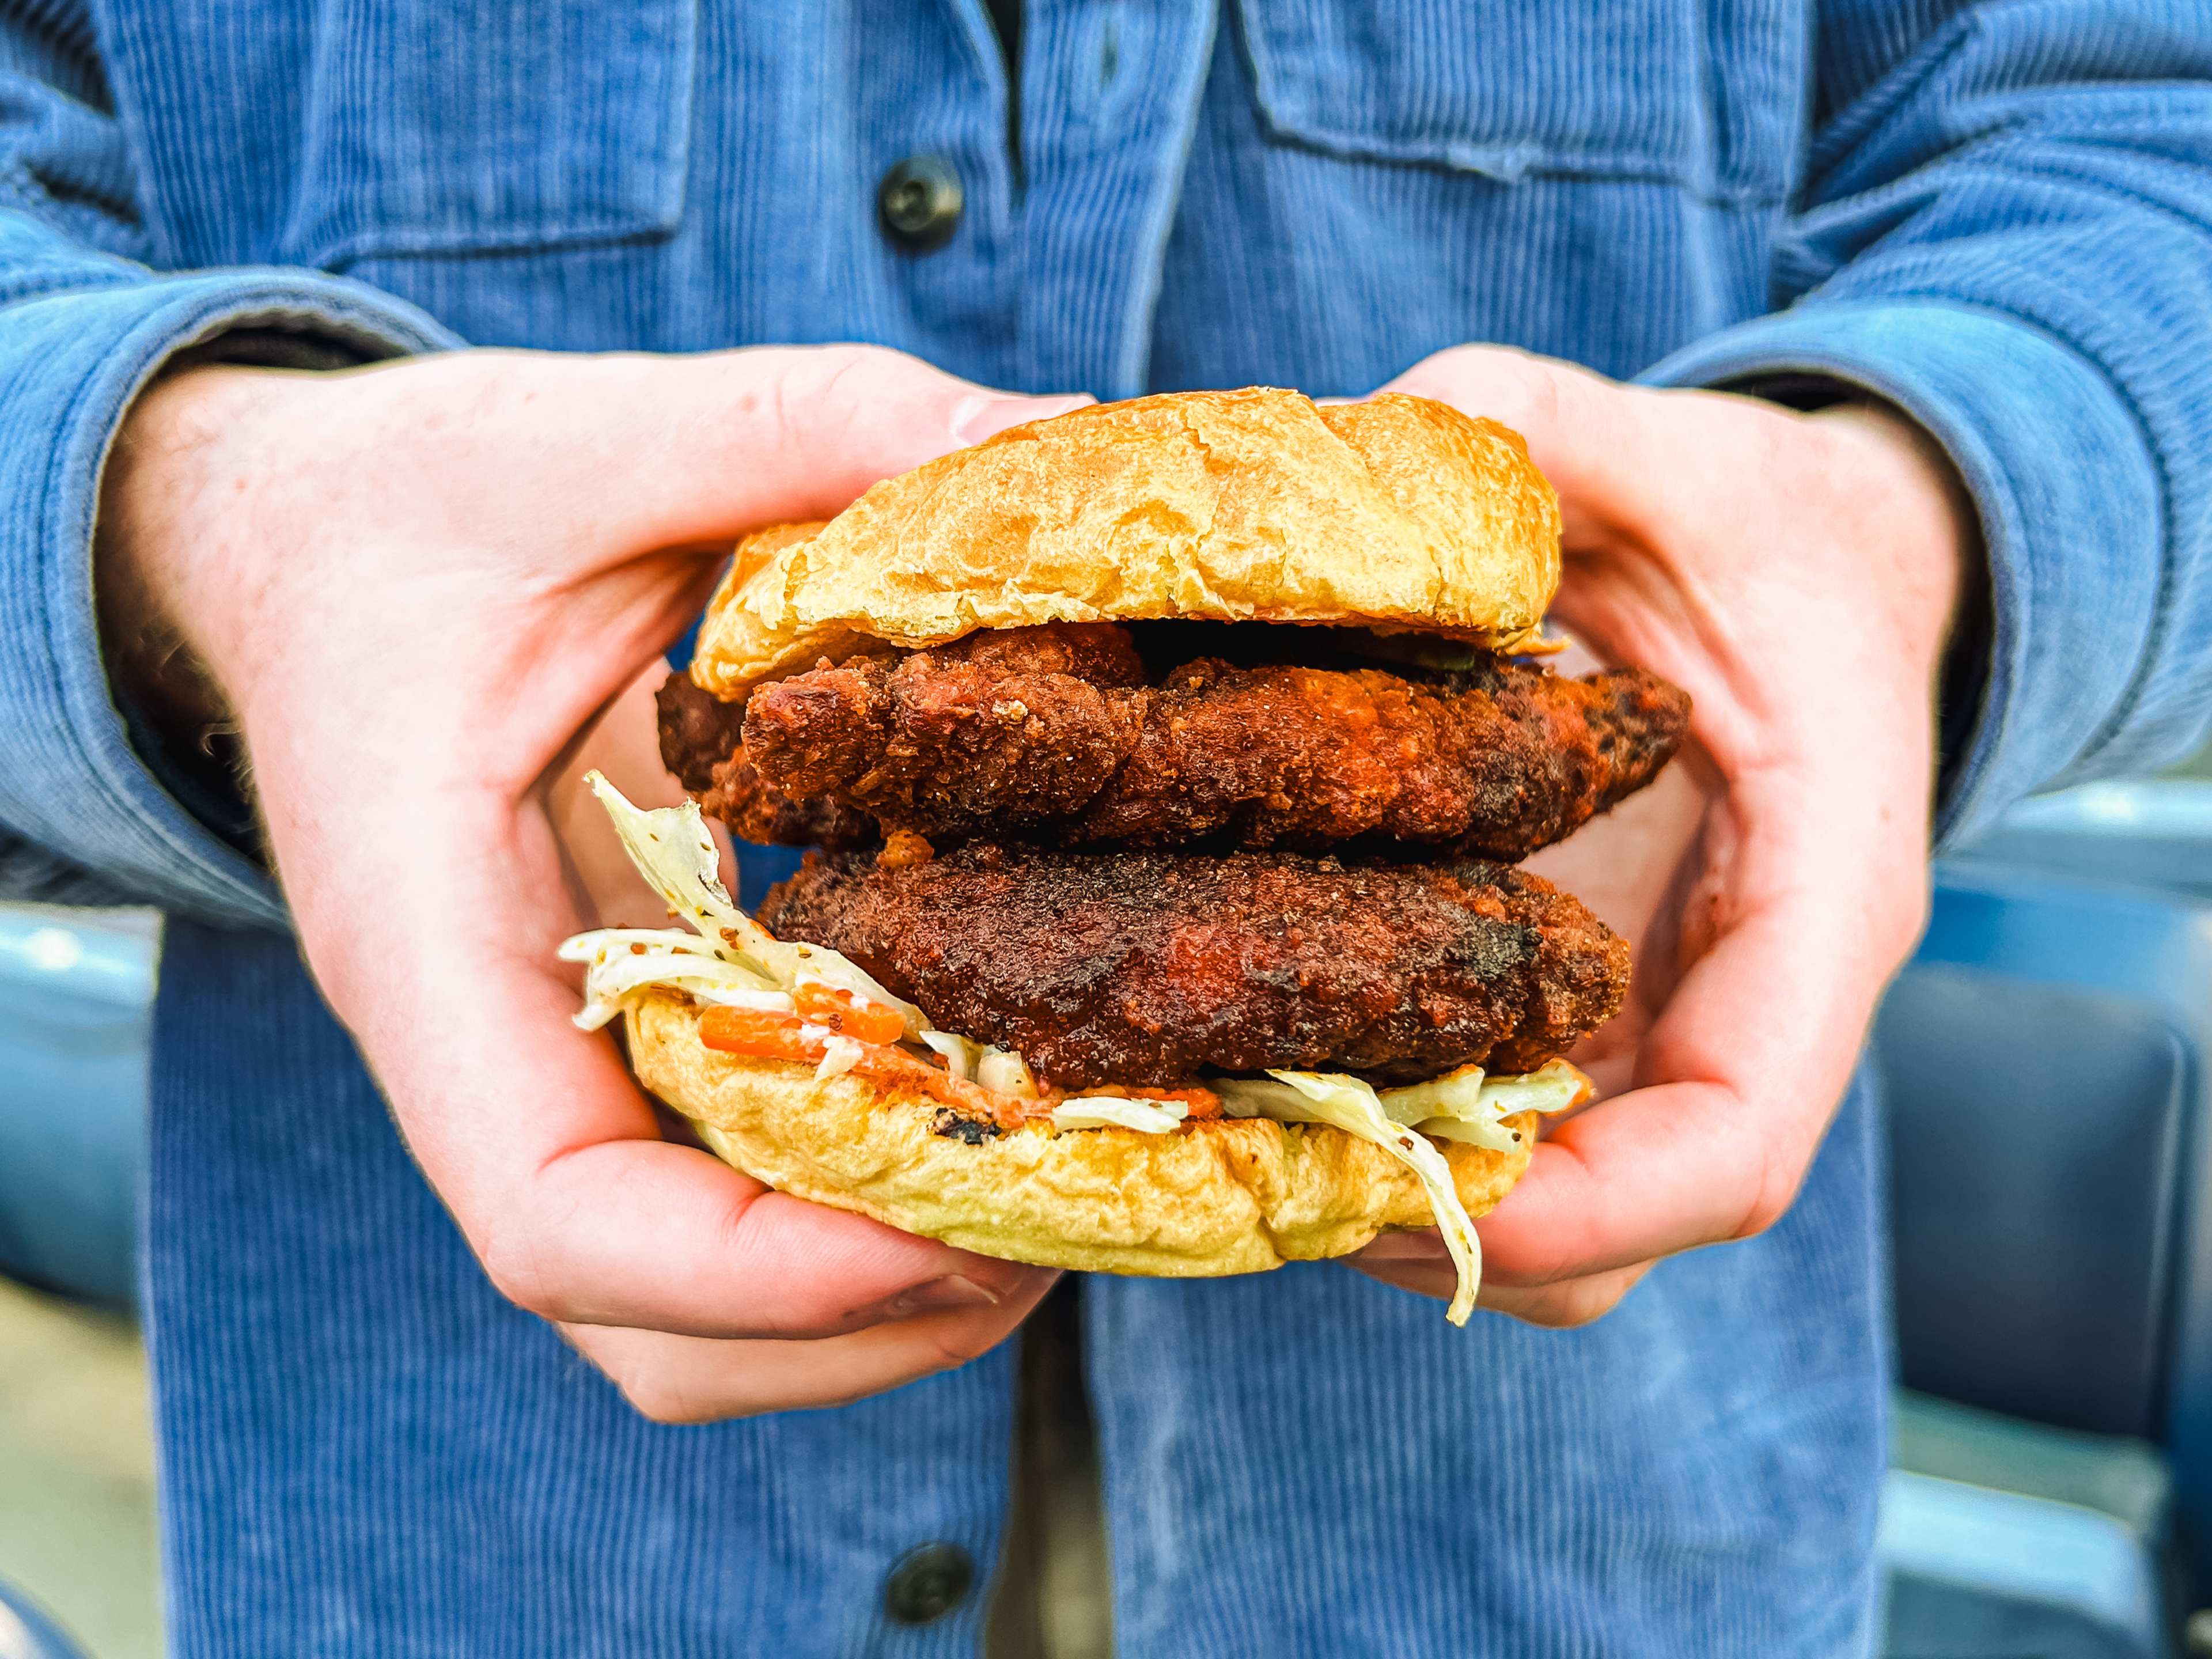
[[[1325,630],[1256,633],[1334,655]],[[1644,787],[1688,719],[1641,668],[1201,657],[1150,679],[1128,628],[1055,624],[821,664],[754,690],[741,732],[783,796],[925,836],[1522,858]]]

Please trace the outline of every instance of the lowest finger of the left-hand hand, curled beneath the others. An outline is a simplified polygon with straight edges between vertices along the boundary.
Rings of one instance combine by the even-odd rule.
[[[980,1312],[898,1318],[812,1343],[717,1343],[699,1336],[571,1325],[562,1334],[657,1422],[719,1422],[845,1405],[982,1358],[1029,1316],[1057,1274],[1040,1274]]]

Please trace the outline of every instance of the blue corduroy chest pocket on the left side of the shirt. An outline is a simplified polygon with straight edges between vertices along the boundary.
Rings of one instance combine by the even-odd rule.
[[[332,0],[290,263],[675,232],[697,0]]]

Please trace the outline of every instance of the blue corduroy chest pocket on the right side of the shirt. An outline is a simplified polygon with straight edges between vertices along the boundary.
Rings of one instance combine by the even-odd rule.
[[[1785,0],[1241,0],[1261,115],[1334,155],[1781,199],[1807,22]]]

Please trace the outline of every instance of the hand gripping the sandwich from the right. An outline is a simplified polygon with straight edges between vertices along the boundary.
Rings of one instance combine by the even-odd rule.
[[[1637,947],[1628,1009],[1579,1055],[1608,1097],[1480,1223],[1482,1303],[1575,1325],[1657,1259],[1772,1225],[1812,1164],[1927,914],[1973,515],[1940,451],[1869,407],[1798,416],[1500,347],[1385,389],[1524,434],[1564,513],[1553,615],[1697,699],[1650,790],[1531,860]],[[1358,1261],[1451,1294],[1433,1234]]]

